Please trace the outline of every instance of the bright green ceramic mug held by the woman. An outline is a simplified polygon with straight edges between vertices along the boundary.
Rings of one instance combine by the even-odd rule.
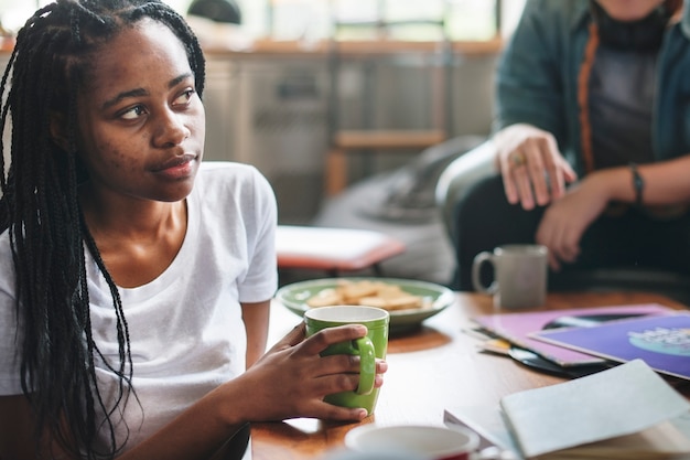
[[[354,392],[327,395],[326,403],[343,407],[363,407],[370,415],[378,399],[379,388],[374,387],[376,379],[376,359],[386,359],[388,350],[388,311],[360,306],[319,307],[304,313],[306,335],[313,335],[322,329],[344,324],[364,324],[367,335],[349,342],[335,343],[324,350],[322,356],[332,354],[352,354],[359,356],[359,385]]]

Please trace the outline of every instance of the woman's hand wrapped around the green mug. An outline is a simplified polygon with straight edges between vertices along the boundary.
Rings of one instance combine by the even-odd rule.
[[[248,388],[242,402],[250,421],[313,417],[327,420],[358,421],[368,414],[363,408],[337,407],[323,402],[324,396],[355,391],[359,384],[359,357],[321,356],[328,345],[365,336],[367,329],[352,324],[330,328],[305,338],[304,324],[298,325],[269,350],[247,372],[236,378]],[[377,361],[376,387],[382,385],[388,368]]]

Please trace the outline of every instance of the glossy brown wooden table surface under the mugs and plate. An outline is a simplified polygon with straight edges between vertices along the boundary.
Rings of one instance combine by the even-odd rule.
[[[565,309],[632,303],[686,307],[668,298],[642,292],[550,293],[545,309]],[[463,332],[470,318],[493,311],[485,295],[457,293],[455,304],[423,322],[420,330],[392,335],[379,400],[374,415],[359,424],[334,424],[314,419],[255,424],[251,430],[254,460],[322,459],[342,448],[345,434],[362,424],[443,425],[449,406],[494,405],[522,389],[562,382],[562,378],[527,368],[499,355],[478,352],[477,340]],[[281,304],[271,311],[269,340],[276,341],[300,319]],[[690,382],[677,388],[690,398]]]

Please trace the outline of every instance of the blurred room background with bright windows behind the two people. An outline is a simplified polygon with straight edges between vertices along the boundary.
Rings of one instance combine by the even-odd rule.
[[[490,131],[524,0],[168,2],[207,58],[205,160],[256,165],[281,224],[378,229],[408,246],[388,275],[450,279],[435,180]],[[0,0],[0,61],[47,3]]]

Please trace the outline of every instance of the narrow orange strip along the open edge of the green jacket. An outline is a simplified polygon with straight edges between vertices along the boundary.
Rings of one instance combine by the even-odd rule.
[[[584,49],[584,58],[578,75],[578,104],[580,105],[580,136],[585,172],[594,171],[594,152],[592,150],[592,124],[590,121],[590,76],[594,67],[596,49],[599,47],[599,30],[596,23],[590,24],[590,39]]]

